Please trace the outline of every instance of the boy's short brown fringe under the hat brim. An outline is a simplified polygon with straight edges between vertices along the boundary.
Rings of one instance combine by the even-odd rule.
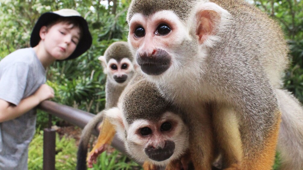
[[[77,18],[75,17],[59,17],[57,20],[52,21],[50,23],[48,23],[47,25],[45,25],[47,27],[47,29],[50,29],[52,26],[54,26],[55,24],[58,23],[66,23],[68,25],[72,25],[70,28],[75,28],[78,27],[80,29],[80,39],[82,37],[82,33],[83,33],[83,28],[80,25],[80,22]]]

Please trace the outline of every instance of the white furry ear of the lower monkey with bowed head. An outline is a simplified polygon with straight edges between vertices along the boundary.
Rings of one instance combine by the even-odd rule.
[[[118,107],[113,107],[111,109],[106,110],[105,116],[117,128],[125,128],[122,119],[122,111]]]

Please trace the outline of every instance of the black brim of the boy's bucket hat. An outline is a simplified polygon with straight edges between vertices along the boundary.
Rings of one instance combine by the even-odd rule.
[[[41,27],[46,26],[53,21],[56,21],[59,17],[75,18],[79,21],[79,24],[82,27],[82,37],[77,44],[75,51],[65,60],[77,58],[78,56],[81,56],[83,53],[85,53],[85,51],[87,51],[92,45],[92,36],[88,30],[88,24],[81,16],[61,16],[53,12],[46,12],[42,14],[33,28],[30,38],[31,47],[35,47],[40,42],[41,38],[39,32]]]

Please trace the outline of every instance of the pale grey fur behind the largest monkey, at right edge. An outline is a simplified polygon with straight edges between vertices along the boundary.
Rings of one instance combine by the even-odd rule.
[[[277,150],[281,170],[303,170],[303,107],[287,90],[276,89],[281,106]]]

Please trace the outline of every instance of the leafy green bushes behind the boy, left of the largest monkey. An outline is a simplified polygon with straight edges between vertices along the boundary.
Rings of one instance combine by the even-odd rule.
[[[128,1],[118,1],[116,15],[113,6],[100,0],[0,0],[0,59],[13,51],[30,47],[29,39],[38,17],[47,11],[76,9],[85,17],[93,37],[92,47],[74,60],[58,61],[47,71],[47,84],[55,90],[56,101],[91,113],[105,105],[105,80],[98,56],[113,42],[127,40],[125,15]],[[37,126],[45,127],[46,113],[38,111]],[[58,119],[54,119],[58,121]]]

